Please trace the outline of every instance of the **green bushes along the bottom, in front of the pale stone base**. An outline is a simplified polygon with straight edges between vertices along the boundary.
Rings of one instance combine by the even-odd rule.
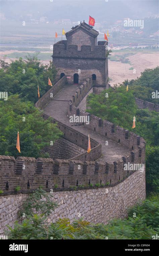
[[[25,213],[22,223],[16,221],[14,228],[8,227],[9,239],[152,239],[158,228],[159,198],[156,195],[129,209],[127,219],[113,219],[107,225],[83,219],[70,223],[68,218],[49,224],[47,218],[54,214],[55,207],[53,196],[37,189],[19,212],[19,216]]]

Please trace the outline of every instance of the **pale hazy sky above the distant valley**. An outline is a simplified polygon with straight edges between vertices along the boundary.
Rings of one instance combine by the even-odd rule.
[[[52,0],[51,0],[52,1]],[[71,21],[86,20],[89,15],[95,17],[96,22],[112,22],[125,17],[142,19],[148,12],[158,13],[157,0],[1,0],[1,12],[7,19],[22,20],[27,14],[33,18],[47,16],[49,21],[57,19],[71,19]]]

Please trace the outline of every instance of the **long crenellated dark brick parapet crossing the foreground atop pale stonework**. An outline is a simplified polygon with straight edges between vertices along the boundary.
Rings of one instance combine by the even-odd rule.
[[[135,153],[138,153],[135,151]],[[125,158],[124,158],[125,157]],[[42,186],[47,191],[69,190],[95,186],[114,186],[134,172],[124,170],[123,164],[139,162],[131,155],[115,162],[81,161],[78,159],[51,159],[0,156],[0,190],[3,194],[30,193]],[[142,157],[141,157],[142,159]],[[140,170],[136,170],[139,171]]]

